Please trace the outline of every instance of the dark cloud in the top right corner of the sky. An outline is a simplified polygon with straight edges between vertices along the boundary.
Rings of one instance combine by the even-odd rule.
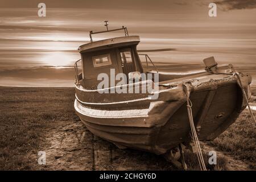
[[[256,8],[256,0],[222,0],[214,2],[221,5],[224,10],[241,10]]]

